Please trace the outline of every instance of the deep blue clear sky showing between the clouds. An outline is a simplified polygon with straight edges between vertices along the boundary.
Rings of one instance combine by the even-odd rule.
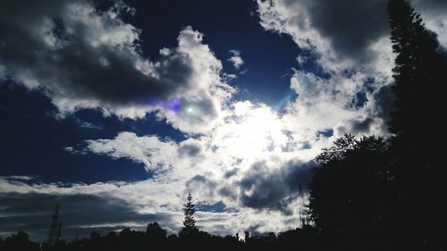
[[[225,72],[239,75],[240,71],[245,71],[231,81],[232,86],[240,88],[235,99],[249,99],[271,106],[281,104],[278,108],[282,108],[285,105],[282,101],[291,98],[287,76],[292,72],[291,67],[297,67],[295,58],[299,54],[299,47],[289,36],[270,34],[258,24],[256,3],[193,1],[179,6],[177,2],[155,1],[129,4],[136,8],[135,15],[129,21],[142,30],[142,41],[150,41],[142,44],[143,54],[147,58],[156,59],[160,48],[175,46],[179,30],[191,25],[206,34],[204,43],[213,45],[212,50],[216,57],[223,59]],[[173,10],[175,13],[172,13]],[[240,23],[244,25],[241,26]],[[156,39],[152,39],[154,34]],[[230,58],[232,49],[243,52],[244,64],[240,69],[234,69],[232,63],[226,60]],[[13,137],[8,138],[9,142],[13,142],[13,147],[4,145],[5,149],[2,151],[4,175],[31,174],[46,181],[88,183],[144,180],[148,174],[140,168],[125,168],[139,164],[110,160],[105,156],[70,155],[63,151],[63,146],[78,144],[85,138],[111,138],[123,130],[131,130],[138,135],[156,134],[161,137],[183,138],[179,131],[172,130],[163,121],[156,121],[150,114],[144,120],[120,121],[116,118],[104,118],[102,113],[90,109],[57,121],[51,115],[57,113],[57,109],[51,104],[51,100],[38,91],[29,91],[14,83],[4,83],[2,90],[2,113],[8,118],[1,125],[2,131],[18,131],[6,135]],[[29,123],[34,125],[32,130],[27,128]],[[88,123],[97,128],[89,128]],[[29,157],[20,157],[24,151]],[[38,169],[35,168],[37,163],[40,166]],[[57,172],[61,166],[73,172]],[[104,170],[108,174],[100,175]]]

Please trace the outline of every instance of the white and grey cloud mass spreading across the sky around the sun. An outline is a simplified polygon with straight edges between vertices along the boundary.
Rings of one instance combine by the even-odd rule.
[[[358,23],[346,20],[347,17],[342,16],[346,12],[342,4],[343,10],[334,10],[341,16],[336,17],[340,20],[331,22],[330,17],[325,17],[331,2],[316,2],[257,2],[260,24],[267,30],[291,35],[297,46],[316,55],[316,63],[322,69],[322,72],[294,71],[291,89],[296,96],[283,113],[261,103],[231,102],[236,90],[226,84],[225,79],[232,76],[221,72],[222,63],[202,43],[203,34],[190,27],[181,30],[177,47],[162,48],[160,60],[150,62],[142,58],[135,46],[140,31],[121,21],[116,9],[96,13],[91,4],[86,4],[88,2],[48,4],[52,8],[32,17],[33,25],[27,30],[30,37],[18,45],[38,48],[41,55],[18,54],[20,56],[11,63],[4,60],[8,54],[2,51],[0,78],[9,74],[28,88],[43,88],[62,113],[99,107],[105,114],[136,119],[156,112],[173,127],[187,132],[187,139],[176,142],[156,135],[121,132],[115,138],[86,140],[84,146],[65,147],[72,154],[94,153],[141,163],[153,173],[149,180],[86,185],[0,178],[0,190],[116,198],[129,204],[136,213],[170,215],[174,221],[166,220],[161,224],[171,230],[180,228],[181,202],[191,191],[199,203],[212,205],[222,201],[227,208],[236,209],[236,212],[199,212],[198,224],[203,230],[228,234],[234,229],[280,231],[297,227],[298,185],[308,179],[312,159],[344,132],[384,135],[392,102],[389,87],[393,57],[383,23],[378,28],[354,34],[364,36],[356,44],[350,40],[356,38],[353,34],[343,32],[359,24],[369,28],[375,20]],[[373,1],[372,5],[367,4],[370,1],[359,2],[354,3],[358,13],[353,15],[353,20],[358,16],[366,19],[364,14],[382,10],[380,4],[385,1]],[[373,12],[362,9],[362,4],[371,7]],[[79,16],[74,15],[74,11]],[[67,36],[72,40],[61,39],[50,32],[55,22],[48,16],[61,12],[64,12]],[[380,13],[384,15],[386,13]],[[434,20],[439,18],[441,16]],[[19,18],[18,21],[24,20]],[[350,26],[342,27],[347,21],[352,21]],[[436,23],[433,27],[442,30],[443,25]],[[333,30],[329,32],[329,29]],[[13,32],[4,30],[0,29],[4,33]],[[338,32],[343,33],[342,38],[337,38]],[[442,35],[440,40],[443,41]],[[342,44],[347,41],[348,44]],[[9,45],[10,42],[5,43]],[[83,71],[80,71],[80,79],[72,74],[67,75],[68,79],[44,74],[56,66],[62,70],[66,70],[65,66],[72,69],[72,63],[64,66],[55,62],[62,60],[63,63],[66,57],[76,59],[76,54],[65,51],[73,48],[88,59],[80,63],[88,63],[95,71],[110,73],[118,69],[120,74],[139,77],[131,77],[135,82],[131,81],[124,93],[115,96],[115,91],[122,90],[122,81],[113,81],[111,86],[116,89],[108,93],[98,83],[84,85],[80,82],[80,86],[76,86],[79,82],[74,80],[91,77],[84,76]],[[46,59],[41,61],[41,67],[36,67],[32,60],[40,56],[54,57],[55,61]],[[299,66],[312,60],[300,55],[297,58]],[[31,59],[31,63],[24,59]],[[229,61],[236,69],[240,67],[243,63],[240,52],[232,51]],[[108,70],[114,65],[119,67]],[[84,69],[78,66],[74,69]],[[147,103],[134,100],[137,96],[132,91],[157,99],[149,98]],[[110,222],[103,222],[107,223]]]

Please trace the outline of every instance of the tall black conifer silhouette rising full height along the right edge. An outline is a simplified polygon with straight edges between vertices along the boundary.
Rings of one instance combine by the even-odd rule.
[[[390,0],[388,14],[396,54],[390,131],[396,134],[392,172],[400,195],[401,239],[409,248],[443,250],[447,244],[433,223],[447,222],[447,201],[440,196],[447,189],[447,63],[409,1]]]

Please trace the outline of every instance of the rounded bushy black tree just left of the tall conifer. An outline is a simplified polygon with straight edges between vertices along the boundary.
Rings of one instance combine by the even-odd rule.
[[[308,209],[324,242],[344,250],[383,250],[390,181],[384,138],[345,134],[316,157]],[[329,248],[329,247],[328,247]]]

